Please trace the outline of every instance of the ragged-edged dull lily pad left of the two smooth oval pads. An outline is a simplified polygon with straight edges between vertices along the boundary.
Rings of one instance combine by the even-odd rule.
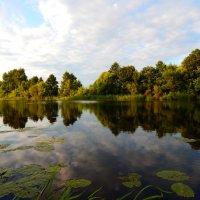
[[[122,181],[122,185],[128,188],[140,187],[142,184],[140,178],[141,175],[137,173],[130,173],[128,176],[119,177],[119,179]]]

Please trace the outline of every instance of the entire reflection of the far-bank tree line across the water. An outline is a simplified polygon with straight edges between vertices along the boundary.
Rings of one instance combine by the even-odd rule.
[[[62,101],[61,116],[66,126],[74,124],[82,110],[94,113],[105,127],[114,135],[121,132],[134,133],[141,126],[145,131],[156,131],[159,138],[166,134],[181,133],[182,137],[197,139],[189,143],[200,149],[200,105],[198,102],[100,102],[73,103]],[[33,121],[46,117],[50,123],[58,116],[58,102],[0,102],[0,115],[3,123],[12,128],[24,128],[28,118]]]

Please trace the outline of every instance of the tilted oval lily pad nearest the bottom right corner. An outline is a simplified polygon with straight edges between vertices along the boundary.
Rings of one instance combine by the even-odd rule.
[[[194,191],[188,185],[183,183],[174,183],[171,186],[172,191],[174,191],[178,196],[181,197],[194,197]]]

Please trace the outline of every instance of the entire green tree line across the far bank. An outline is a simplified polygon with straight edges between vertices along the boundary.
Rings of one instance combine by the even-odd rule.
[[[72,97],[88,95],[144,95],[160,99],[173,95],[200,95],[200,50],[193,50],[178,66],[158,61],[140,72],[132,65],[117,62],[103,72],[89,87],[84,88],[73,73],[65,72],[60,88],[51,74],[44,81],[34,76],[27,78],[24,69],[4,73],[0,82],[0,97]]]

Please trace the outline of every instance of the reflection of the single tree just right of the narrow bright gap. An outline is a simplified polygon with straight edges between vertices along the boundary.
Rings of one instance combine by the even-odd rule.
[[[65,126],[74,124],[82,114],[82,104],[62,101],[61,105],[61,116]]]

